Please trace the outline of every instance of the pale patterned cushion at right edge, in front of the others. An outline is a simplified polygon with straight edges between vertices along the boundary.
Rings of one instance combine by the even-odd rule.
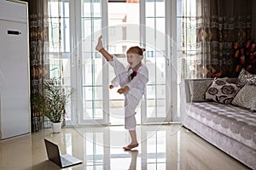
[[[236,94],[232,104],[256,111],[256,86],[245,85]]]

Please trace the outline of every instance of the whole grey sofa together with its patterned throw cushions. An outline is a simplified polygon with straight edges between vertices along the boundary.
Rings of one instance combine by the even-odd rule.
[[[238,88],[231,97],[222,94],[212,98],[209,92],[216,94],[216,89],[211,88],[214,82]],[[242,84],[238,78],[210,78],[185,79],[181,89],[183,127],[247,167],[256,169],[256,86]],[[236,99],[239,97],[242,99]],[[246,104],[239,105],[239,102]]]

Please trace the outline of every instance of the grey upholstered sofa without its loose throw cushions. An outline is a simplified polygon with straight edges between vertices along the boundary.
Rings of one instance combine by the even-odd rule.
[[[194,101],[191,98],[191,83],[200,81],[206,83],[206,88],[212,79],[186,79],[182,82],[182,102],[185,104],[182,107],[183,127],[247,167],[256,169],[256,112],[206,99]],[[236,79],[228,81],[234,82]]]

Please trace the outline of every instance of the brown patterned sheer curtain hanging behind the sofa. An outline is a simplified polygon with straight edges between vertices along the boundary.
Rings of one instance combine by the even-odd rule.
[[[236,77],[233,43],[251,31],[252,0],[183,0],[183,77]]]

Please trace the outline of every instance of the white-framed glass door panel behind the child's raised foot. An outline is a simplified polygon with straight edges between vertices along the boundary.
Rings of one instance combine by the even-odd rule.
[[[108,124],[108,84],[106,74],[108,67],[104,66],[102,55],[96,53],[97,37],[102,34],[101,0],[82,0],[80,3],[81,16],[77,34],[79,40],[79,63],[77,74],[81,86],[79,103],[79,124]],[[105,19],[106,20],[106,19]],[[80,87],[78,87],[80,88]]]

